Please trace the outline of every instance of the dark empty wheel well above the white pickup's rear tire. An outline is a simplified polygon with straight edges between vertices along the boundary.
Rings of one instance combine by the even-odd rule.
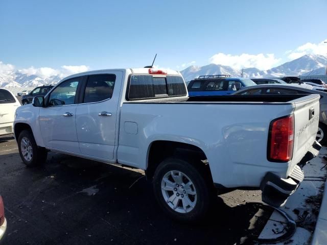
[[[200,165],[206,170],[209,178],[212,179],[207,158],[198,146],[166,140],[154,141],[150,146],[146,169],[147,179],[152,179],[157,166],[168,157],[178,157],[188,160],[192,164]]]

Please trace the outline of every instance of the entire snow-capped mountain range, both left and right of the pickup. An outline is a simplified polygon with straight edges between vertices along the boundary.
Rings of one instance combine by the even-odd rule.
[[[0,62],[1,64],[1,62]],[[327,57],[322,55],[304,55],[298,59],[286,62],[269,70],[260,70],[255,67],[244,68],[245,78],[284,77],[299,75],[325,75]],[[228,74],[232,77],[240,77],[242,70],[233,69],[226,65],[209,64],[205,66],[189,66],[181,71],[185,81],[191,81],[201,75]],[[63,76],[44,76],[25,74],[22,70],[0,70],[0,87],[21,86],[36,87],[45,84],[56,84]]]

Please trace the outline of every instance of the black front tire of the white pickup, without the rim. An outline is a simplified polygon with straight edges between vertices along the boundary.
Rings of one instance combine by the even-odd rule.
[[[30,142],[30,147],[32,148],[32,156],[31,159],[26,159],[25,156],[23,156],[22,153],[22,139],[27,138]],[[43,164],[46,161],[46,157],[48,156],[48,152],[46,149],[39,147],[36,145],[33,133],[30,130],[23,130],[18,136],[18,150],[21,160],[28,166],[28,167],[34,167],[39,166]],[[24,143],[23,143],[24,144]]]

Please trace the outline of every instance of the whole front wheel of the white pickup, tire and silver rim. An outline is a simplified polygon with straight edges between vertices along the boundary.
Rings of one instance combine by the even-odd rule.
[[[31,131],[23,130],[18,137],[18,150],[21,160],[28,166],[41,165],[46,161],[48,152],[36,145]]]

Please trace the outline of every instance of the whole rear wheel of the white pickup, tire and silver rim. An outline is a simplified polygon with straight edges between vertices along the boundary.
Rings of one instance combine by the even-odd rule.
[[[185,160],[169,158],[157,167],[153,190],[162,210],[181,222],[205,217],[211,200],[211,187],[200,167]]]

